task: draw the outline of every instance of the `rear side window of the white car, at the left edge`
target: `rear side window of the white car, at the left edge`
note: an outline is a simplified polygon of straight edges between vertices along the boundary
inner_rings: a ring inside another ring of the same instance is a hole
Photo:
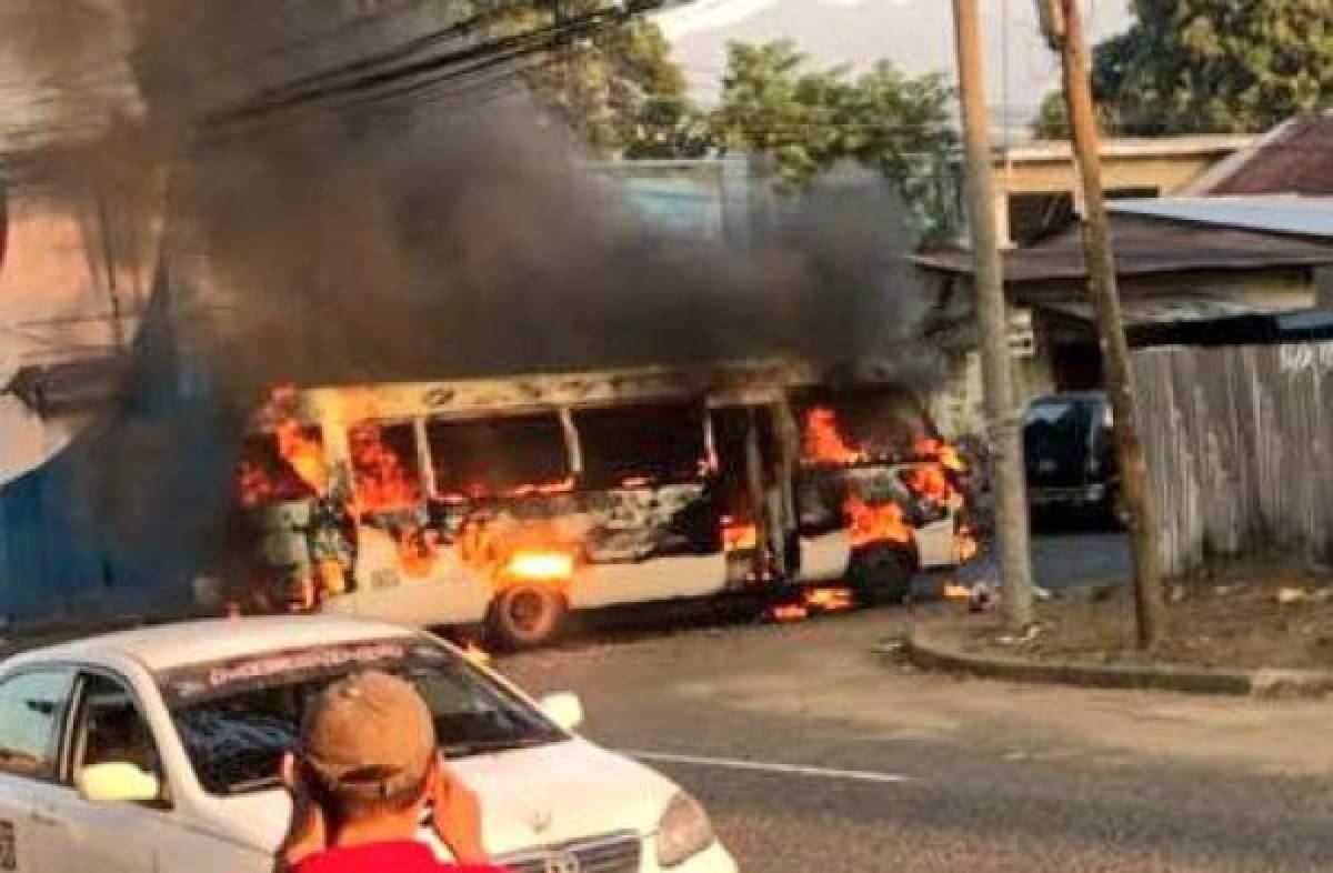
[[[69,670],[31,670],[0,682],[0,772],[55,778]]]

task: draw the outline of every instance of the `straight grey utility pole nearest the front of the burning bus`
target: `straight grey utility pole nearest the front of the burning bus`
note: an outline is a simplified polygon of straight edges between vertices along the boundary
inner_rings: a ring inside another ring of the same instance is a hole
[[[1032,552],[1028,542],[1028,494],[1022,440],[1013,391],[1009,317],[1004,299],[1004,265],[996,228],[994,181],[990,179],[990,119],[981,63],[978,0],[953,0],[962,92],[968,223],[972,225],[973,296],[981,332],[981,368],[986,389],[986,429],[994,470],[996,545],[1000,549],[1002,606],[1014,628],[1032,624]]]

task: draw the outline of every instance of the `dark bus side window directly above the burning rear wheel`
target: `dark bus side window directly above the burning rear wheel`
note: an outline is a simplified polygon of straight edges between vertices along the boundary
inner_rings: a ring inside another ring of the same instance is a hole
[[[444,497],[523,496],[572,486],[556,413],[427,423],[436,490]]]

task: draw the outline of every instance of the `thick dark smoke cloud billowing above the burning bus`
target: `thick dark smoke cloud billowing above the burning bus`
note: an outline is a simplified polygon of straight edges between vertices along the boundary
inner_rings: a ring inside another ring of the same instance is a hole
[[[924,297],[904,261],[914,235],[881,183],[841,175],[780,205],[741,247],[672,233],[589,172],[519,80],[415,105],[335,100],[200,124],[447,27],[447,4],[400,3],[401,15],[331,31],[324,0],[84,3],[95,12],[44,21],[21,51],[3,28],[0,48],[76,83],[97,16],[121,21],[133,111],[83,151],[97,160],[67,165],[141,192],[167,180],[159,288],[171,292],[173,343],[143,359],[103,427],[108,449],[88,465],[89,506],[120,541],[225,545],[209,530],[231,497],[227,449],[275,384],[781,353],[930,376]],[[291,48],[260,48],[275,45]],[[181,367],[220,403],[161,415],[148,385]]]

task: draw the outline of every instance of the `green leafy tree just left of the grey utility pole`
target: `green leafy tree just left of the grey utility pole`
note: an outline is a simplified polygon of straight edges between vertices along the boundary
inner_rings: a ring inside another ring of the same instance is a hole
[[[938,227],[952,212],[940,168],[958,141],[953,99],[941,75],[909,77],[889,61],[853,79],[809,71],[790,40],[733,44],[713,135],[724,151],[766,157],[789,189],[846,160],[877,169]]]

